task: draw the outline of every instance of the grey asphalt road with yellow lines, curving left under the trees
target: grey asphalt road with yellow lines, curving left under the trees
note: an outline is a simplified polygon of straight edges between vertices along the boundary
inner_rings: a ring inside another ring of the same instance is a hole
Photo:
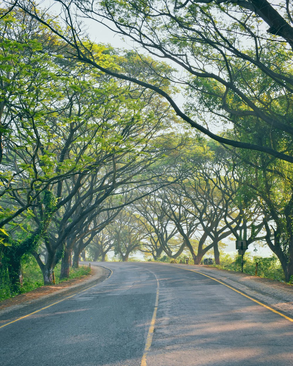
[[[6,314],[1,366],[293,365],[293,322],[232,288],[179,266],[103,265],[94,287]]]

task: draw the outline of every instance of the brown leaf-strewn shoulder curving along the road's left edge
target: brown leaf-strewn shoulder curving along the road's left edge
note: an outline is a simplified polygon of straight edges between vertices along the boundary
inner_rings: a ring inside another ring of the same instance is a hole
[[[91,266],[89,276],[81,276],[75,279],[64,281],[52,286],[42,286],[26,294],[20,294],[14,298],[0,302],[0,324],[6,319],[5,314],[25,313],[26,309],[34,311],[35,308],[48,305],[70,296],[76,292],[82,291],[88,287],[94,286],[104,281],[110,275],[110,270],[103,266]]]

